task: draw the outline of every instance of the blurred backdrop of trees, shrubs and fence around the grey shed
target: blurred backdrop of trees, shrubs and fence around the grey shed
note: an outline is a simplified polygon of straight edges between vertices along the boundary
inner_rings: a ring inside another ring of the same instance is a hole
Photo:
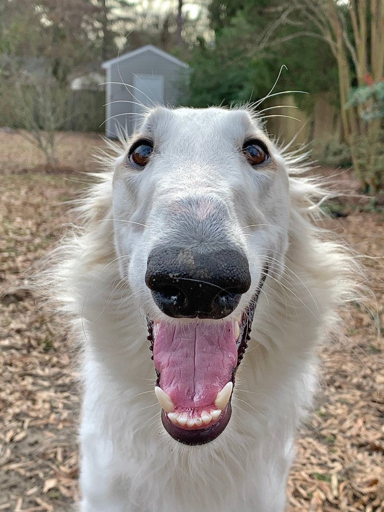
[[[267,129],[302,130],[320,161],[384,188],[384,0],[0,0],[0,125],[98,130],[101,63],[146,44],[188,62],[180,103],[195,107],[255,102],[285,65],[274,92],[309,94],[267,98]]]

